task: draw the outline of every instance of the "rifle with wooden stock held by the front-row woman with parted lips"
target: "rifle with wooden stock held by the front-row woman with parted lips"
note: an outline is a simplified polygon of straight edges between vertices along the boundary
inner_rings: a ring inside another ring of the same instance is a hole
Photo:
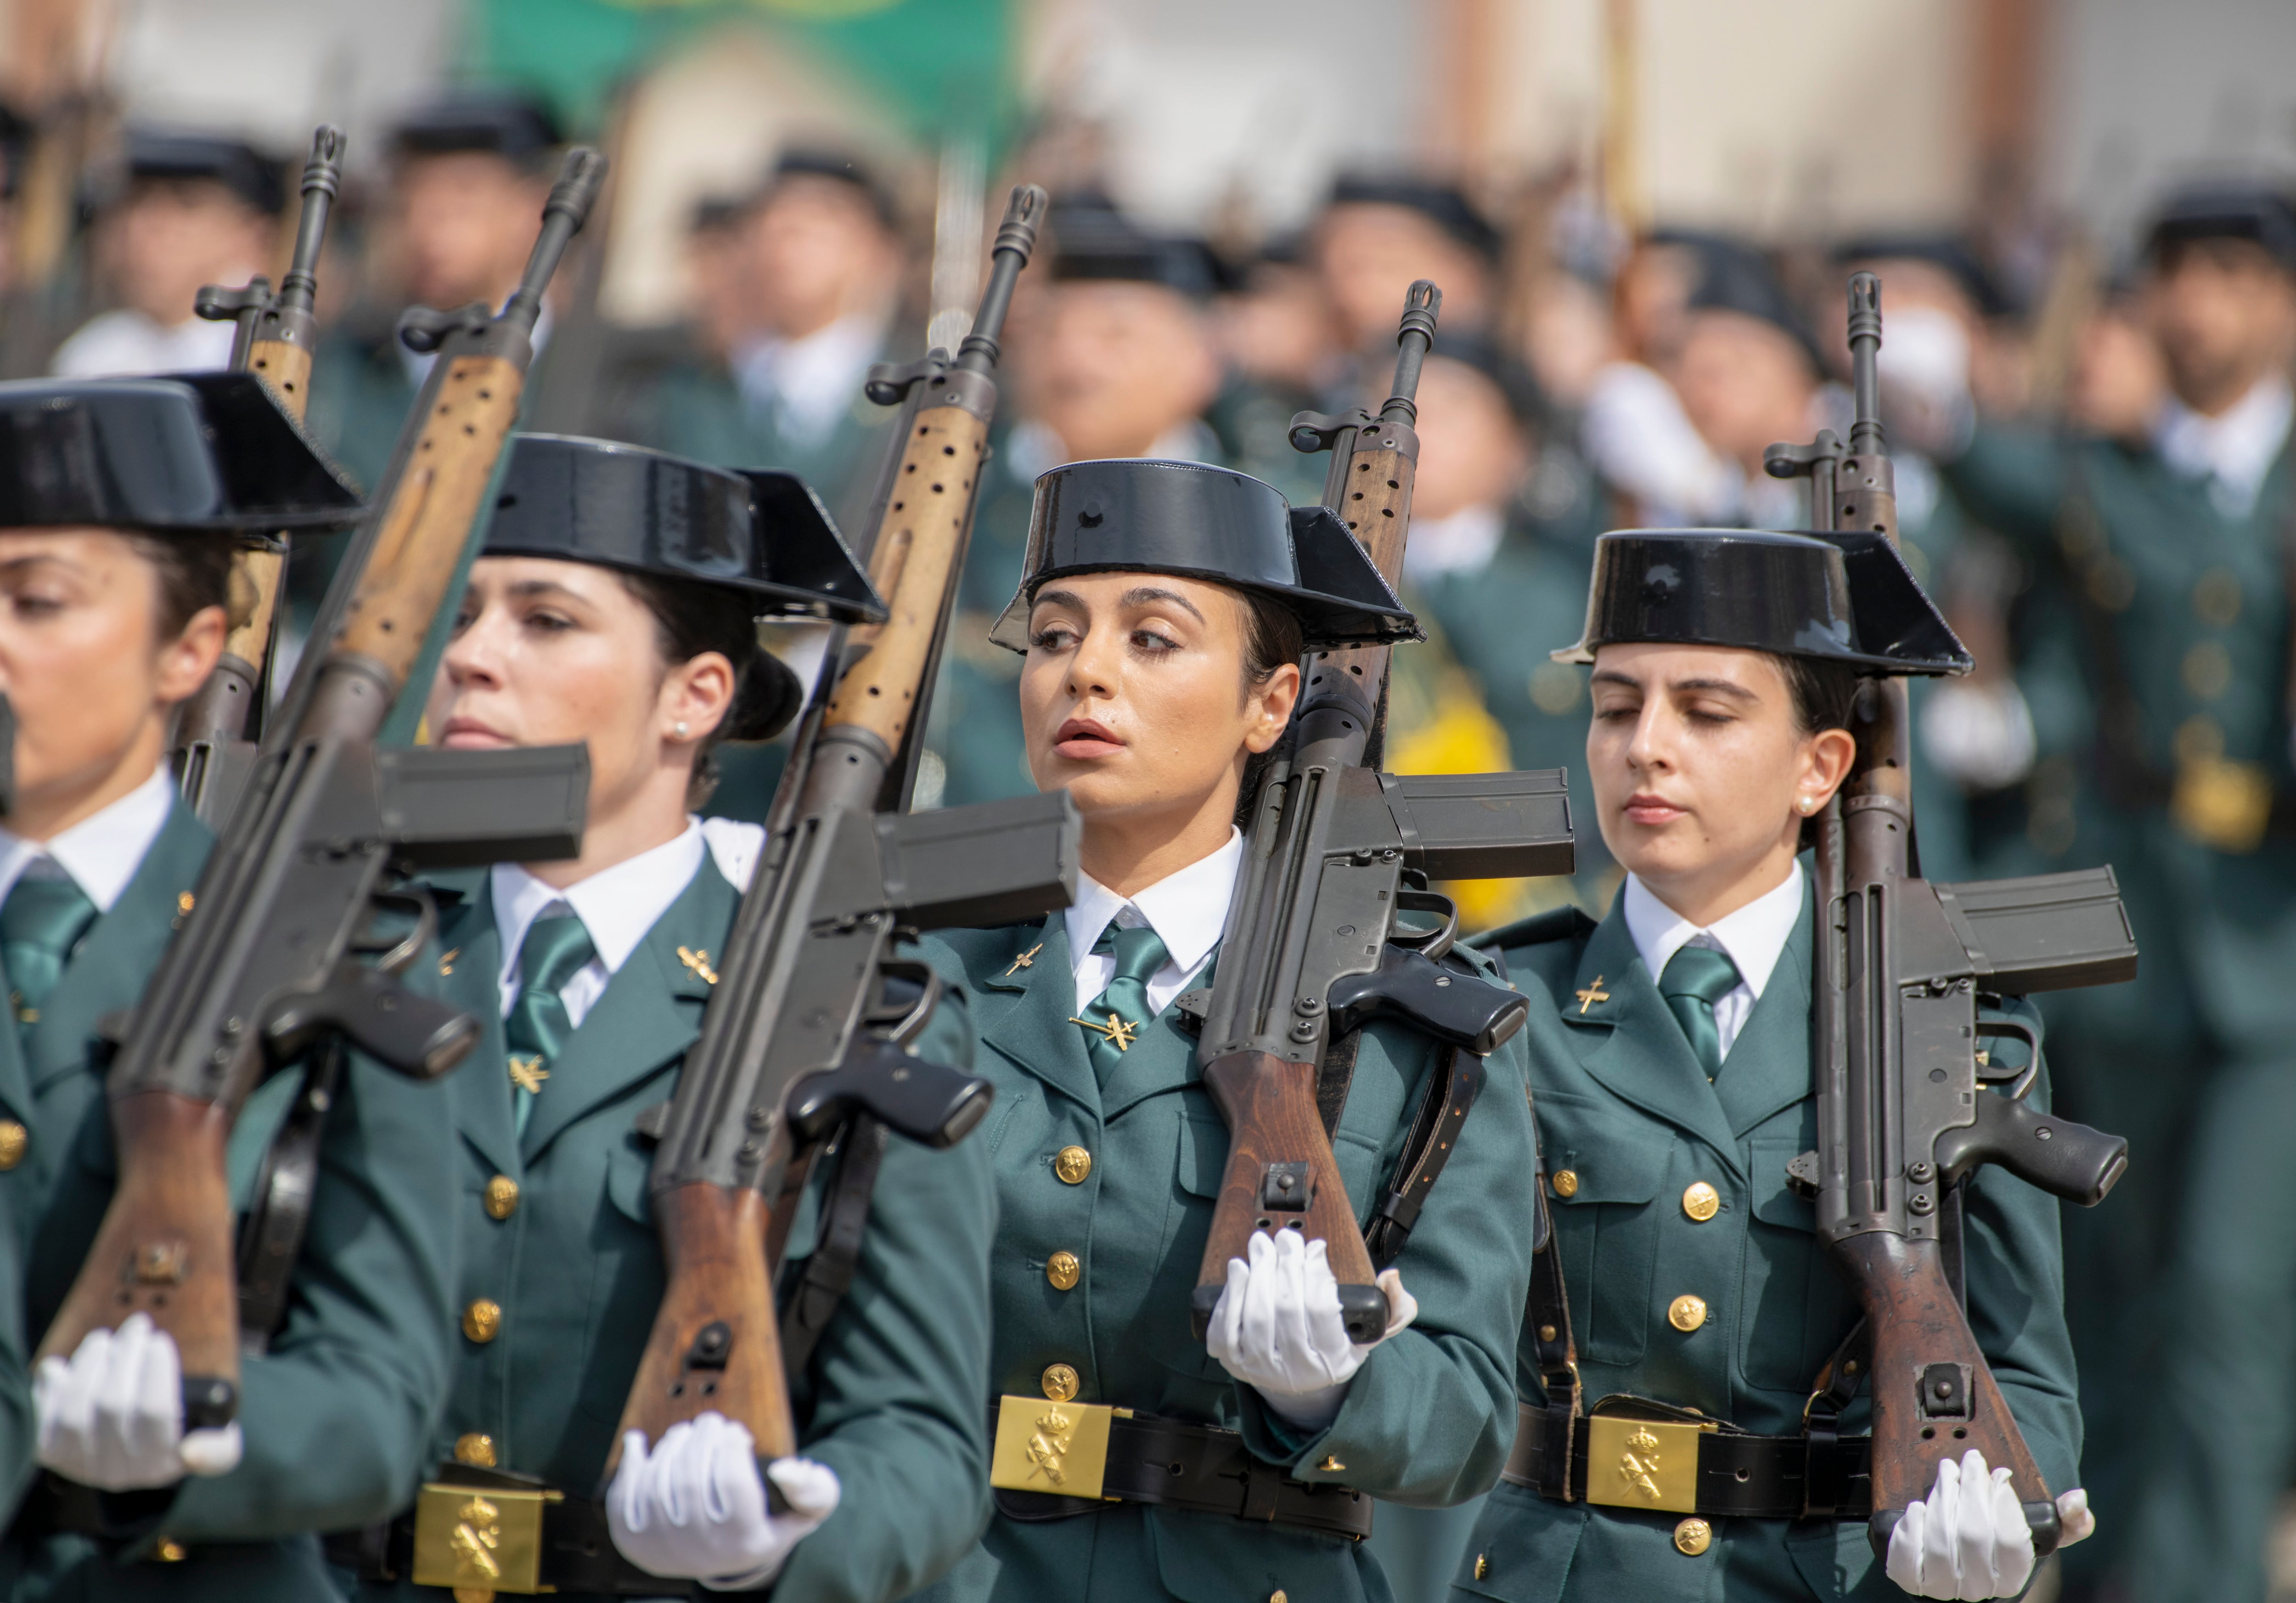
[[[1419,462],[1414,395],[1440,305],[1435,285],[1412,285],[1394,393],[1380,416],[1300,413],[1290,423],[1295,450],[1332,452],[1325,503],[1389,586],[1403,574]],[[1231,1137],[1192,1298],[1199,1339],[1228,1281],[1228,1259],[1247,1256],[1256,1231],[1277,1229],[1325,1242],[1348,1334],[1364,1343],[1380,1337],[1387,1300],[1332,1155],[1355,1066],[1352,1031],[1394,1017],[1451,1050],[1446,1079],[1424,1102],[1440,1139],[1414,1141],[1449,1153],[1481,1086],[1481,1059],[1522,1029],[1529,1004],[1442,962],[1458,909],[1428,882],[1570,873],[1561,769],[1380,772],[1389,650],[1322,650],[1302,664],[1300,707],[1251,802],[1242,884],[1210,999],[1182,999],[1201,1010],[1196,1059]],[[1433,916],[1433,928],[1412,914]],[[1401,1249],[1428,1183],[1424,1164],[1407,1164],[1380,1199],[1375,1240]]]

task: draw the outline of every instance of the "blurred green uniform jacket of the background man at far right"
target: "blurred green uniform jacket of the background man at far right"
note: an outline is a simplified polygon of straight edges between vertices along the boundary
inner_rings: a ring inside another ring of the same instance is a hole
[[[2285,1054],[2296,1031],[2296,988],[2285,983],[2296,962],[2296,831],[2252,850],[2211,847],[2179,822],[2170,788],[2193,779],[2195,795],[2225,795],[2216,765],[2282,795],[2296,788],[2289,455],[2241,517],[2151,450],[2030,429],[1979,432],[1947,478],[2085,613],[2080,668],[2096,735],[2050,866],[2115,866],[2144,967],[2135,985],[2080,992],[2082,1029],[2140,1050],[2183,1052],[2206,1031],[2234,1052]],[[2115,680],[2128,710],[2105,705]],[[2110,762],[2105,733],[2126,737],[2149,776]]]

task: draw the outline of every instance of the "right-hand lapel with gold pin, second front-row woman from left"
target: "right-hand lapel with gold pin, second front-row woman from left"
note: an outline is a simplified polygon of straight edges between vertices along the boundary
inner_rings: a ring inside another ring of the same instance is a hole
[[[732,912],[732,886],[703,857],[693,882],[645,932],[551,1063],[551,1077],[519,1137],[528,1164],[560,1130],[684,1056],[700,1036],[709,1001],[712,981],[703,969],[716,974],[714,962],[723,955]],[[693,962],[680,958],[680,948]]]

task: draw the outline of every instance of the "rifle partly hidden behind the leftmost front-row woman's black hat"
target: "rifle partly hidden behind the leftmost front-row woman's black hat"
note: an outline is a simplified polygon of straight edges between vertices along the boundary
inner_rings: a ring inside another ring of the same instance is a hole
[[[310,404],[310,363],[319,347],[319,250],[326,246],[326,220],[342,188],[342,129],[321,124],[310,138],[310,161],[303,163],[303,216],[278,294],[269,280],[255,278],[239,289],[209,285],[193,301],[200,317],[239,324],[232,367],[257,374],[280,411],[296,423]],[[230,815],[255,765],[253,735],[262,728],[264,682],[271,671],[271,638],[285,579],[285,542],[241,547],[232,556],[232,606],[248,609],[246,618],[225,636],[223,657],[207,675],[207,684],[177,712],[174,774],[184,802],[204,824]]]

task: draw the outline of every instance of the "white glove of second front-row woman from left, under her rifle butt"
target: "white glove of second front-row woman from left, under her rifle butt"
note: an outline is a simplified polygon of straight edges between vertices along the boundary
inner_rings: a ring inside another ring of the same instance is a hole
[[[836,1513],[836,1470],[810,1458],[765,1468],[788,1513],[774,1513],[748,1428],[707,1412],[661,1433],[622,1435],[622,1468],[606,1490],[606,1530],[622,1557],[652,1575],[700,1580],[716,1592],[762,1587],[799,1541]]]

